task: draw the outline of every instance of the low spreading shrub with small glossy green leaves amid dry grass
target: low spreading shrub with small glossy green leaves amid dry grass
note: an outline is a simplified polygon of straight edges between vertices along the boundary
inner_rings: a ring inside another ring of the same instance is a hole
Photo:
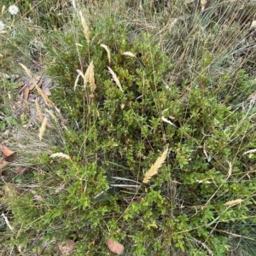
[[[3,202],[19,230],[8,242],[23,253],[54,253],[55,241],[71,239],[77,255],[107,255],[112,238],[125,255],[231,255],[230,236],[255,223],[255,113],[252,101],[236,104],[252,79],[243,68],[236,79],[212,77],[215,59],[202,49],[200,75],[177,84],[166,79],[176,63],[149,33],[129,38],[129,23],[111,14],[87,25],[90,38],[77,18],[46,38],[62,115],[50,149],[70,159],[40,155],[38,185],[19,196],[7,184]],[[79,75],[90,63],[95,89]],[[143,183],[165,148],[165,163]]]

